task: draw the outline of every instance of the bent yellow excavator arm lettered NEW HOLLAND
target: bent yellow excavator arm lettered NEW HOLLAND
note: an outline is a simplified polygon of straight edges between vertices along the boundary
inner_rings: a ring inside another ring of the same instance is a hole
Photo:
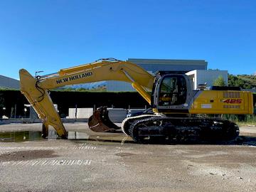
[[[58,112],[53,106],[48,90],[65,85],[74,85],[102,80],[119,80],[130,82],[137,92],[151,104],[151,92],[154,76],[138,65],[127,61],[115,59],[101,59],[95,63],[65,68],[51,75],[33,78],[28,71],[19,71],[21,92],[30,102],[38,117],[43,121],[43,127],[48,130],[48,125],[53,126],[60,137],[66,138],[67,132]]]

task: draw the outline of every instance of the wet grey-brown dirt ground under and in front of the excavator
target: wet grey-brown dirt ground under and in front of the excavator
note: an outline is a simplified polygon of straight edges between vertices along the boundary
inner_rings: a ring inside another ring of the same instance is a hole
[[[65,124],[0,125],[0,191],[256,191],[256,127],[233,142],[135,144],[124,134]]]

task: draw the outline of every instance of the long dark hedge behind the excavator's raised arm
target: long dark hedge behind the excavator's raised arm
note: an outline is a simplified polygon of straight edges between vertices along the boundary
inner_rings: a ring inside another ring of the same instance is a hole
[[[149,104],[137,92],[63,92],[50,93],[53,103],[58,106],[60,117],[69,116],[70,109],[95,108],[107,106],[112,108],[144,108]],[[85,110],[76,111],[75,118]],[[0,119],[30,118],[35,119],[36,114],[31,110],[28,101],[18,90],[0,90]]]

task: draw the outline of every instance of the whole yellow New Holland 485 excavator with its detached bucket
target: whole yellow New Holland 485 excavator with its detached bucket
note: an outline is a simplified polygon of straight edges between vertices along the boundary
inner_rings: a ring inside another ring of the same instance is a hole
[[[171,141],[230,140],[238,137],[237,124],[221,118],[198,114],[252,114],[252,93],[234,87],[215,87],[215,90],[192,90],[190,78],[180,72],[159,71],[151,75],[134,63],[113,58],[65,68],[50,75],[19,71],[21,92],[26,96],[43,122],[43,137],[48,126],[67,138],[67,132],[50,99],[49,90],[65,85],[102,80],[130,82],[151,105],[154,114],[127,117],[122,127],[110,122],[106,107],[100,107],[88,120],[95,132],[114,132],[122,129],[135,142],[146,139]],[[120,99],[120,98],[118,98]]]

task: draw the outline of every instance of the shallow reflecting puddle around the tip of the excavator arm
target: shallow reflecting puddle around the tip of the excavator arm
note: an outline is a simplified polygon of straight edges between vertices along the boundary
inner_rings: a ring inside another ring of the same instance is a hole
[[[57,133],[49,130],[47,139],[41,137],[42,132],[38,131],[20,131],[20,132],[0,132],[0,142],[27,142],[27,141],[46,141],[60,139]],[[114,143],[134,143],[132,138],[124,134],[97,133],[87,134],[85,132],[68,132],[68,140],[72,141],[90,141],[90,142],[114,142]]]

